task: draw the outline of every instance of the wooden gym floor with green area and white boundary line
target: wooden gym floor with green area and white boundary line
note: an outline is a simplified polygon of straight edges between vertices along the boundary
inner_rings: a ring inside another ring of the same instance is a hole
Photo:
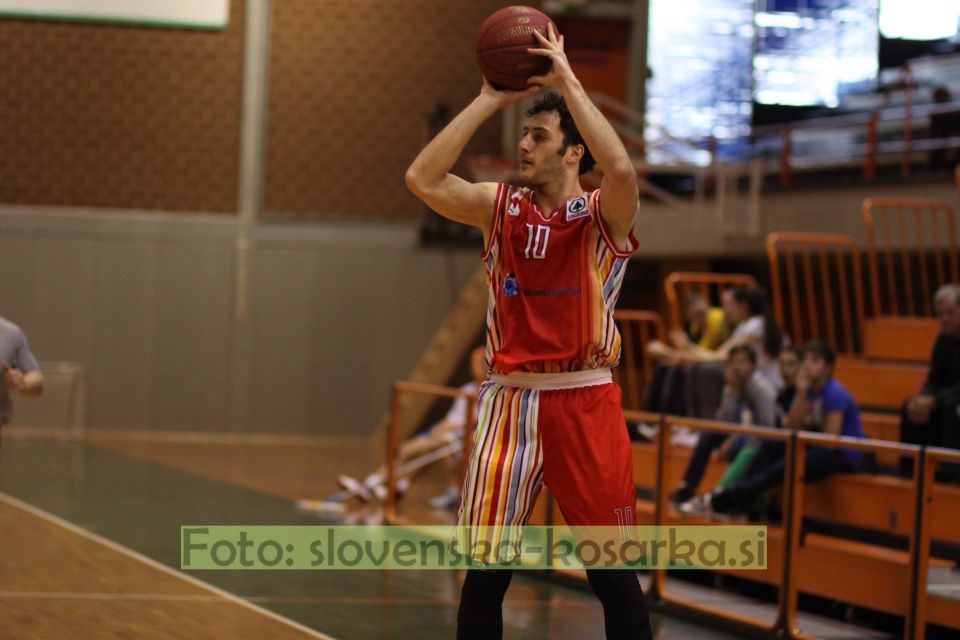
[[[176,568],[182,524],[335,523],[293,501],[372,469],[380,456],[366,440],[11,435],[0,446],[0,638],[453,637],[456,572]],[[414,487],[406,515],[451,517],[423,506],[438,477]],[[603,637],[592,594],[522,572],[504,621],[506,638]],[[736,637],[661,615],[655,629],[660,640]]]

